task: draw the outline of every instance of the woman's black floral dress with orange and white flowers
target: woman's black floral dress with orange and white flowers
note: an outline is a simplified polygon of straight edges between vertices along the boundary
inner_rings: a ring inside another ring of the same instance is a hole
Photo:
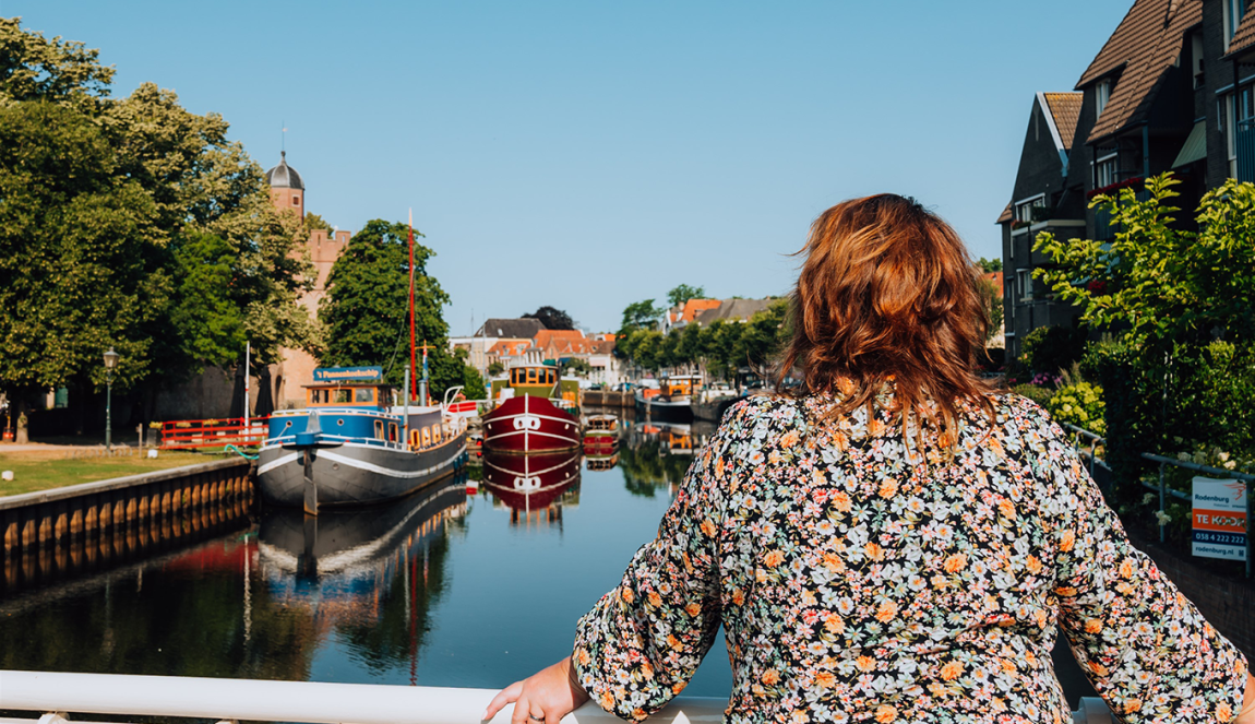
[[[660,709],[720,624],[729,721],[1071,721],[1060,627],[1124,721],[1241,709],[1246,659],[1130,545],[1034,403],[965,412],[953,457],[905,445],[887,413],[826,422],[831,404],[724,417],[658,538],[580,620],[572,661],[604,709]]]

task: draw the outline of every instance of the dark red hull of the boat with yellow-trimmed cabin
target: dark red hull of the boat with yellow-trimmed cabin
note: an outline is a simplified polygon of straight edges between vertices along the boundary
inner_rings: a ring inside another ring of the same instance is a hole
[[[483,415],[483,447],[496,453],[579,450],[580,420],[545,398],[522,395]]]

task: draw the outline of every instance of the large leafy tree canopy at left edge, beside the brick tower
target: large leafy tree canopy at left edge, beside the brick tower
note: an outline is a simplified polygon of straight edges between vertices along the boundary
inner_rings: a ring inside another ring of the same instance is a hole
[[[110,346],[124,389],[310,345],[300,220],[220,115],[112,99],[97,55],[0,19],[0,388],[98,386]]]

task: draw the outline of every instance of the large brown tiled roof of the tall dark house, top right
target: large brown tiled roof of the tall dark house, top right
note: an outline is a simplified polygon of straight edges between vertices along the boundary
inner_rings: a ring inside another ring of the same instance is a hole
[[[1077,88],[1123,68],[1088,141],[1142,120],[1155,87],[1181,51],[1185,31],[1202,20],[1202,0],[1137,0],[1107,39]]]

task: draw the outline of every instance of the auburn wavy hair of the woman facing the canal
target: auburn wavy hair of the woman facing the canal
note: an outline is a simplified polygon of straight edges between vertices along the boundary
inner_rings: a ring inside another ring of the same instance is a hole
[[[978,267],[946,222],[894,193],[855,198],[820,215],[797,253],[778,391],[833,393],[836,418],[872,408],[891,383],[904,438],[914,422],[943,447],[958,442],[964,400],[991,415],[993,388],[976,371],[989,329]],[[801,388],[787,384],[796,369]]]

